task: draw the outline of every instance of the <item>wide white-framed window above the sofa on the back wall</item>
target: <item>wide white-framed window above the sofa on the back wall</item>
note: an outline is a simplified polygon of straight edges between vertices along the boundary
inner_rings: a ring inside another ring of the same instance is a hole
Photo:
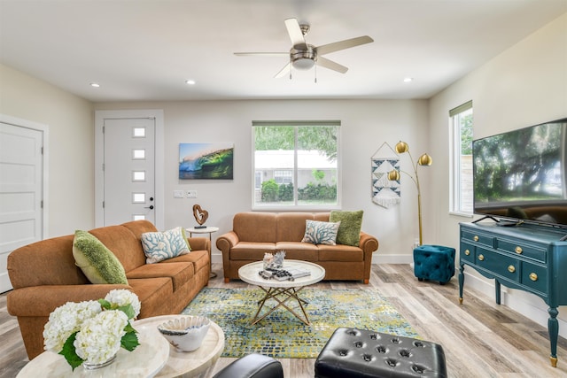
[[[252,121],[252,208],[338,208],[339,131],[338,120]]]

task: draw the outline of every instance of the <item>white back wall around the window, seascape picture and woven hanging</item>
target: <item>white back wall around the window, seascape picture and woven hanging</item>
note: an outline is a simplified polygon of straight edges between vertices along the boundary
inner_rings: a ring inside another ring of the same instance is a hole
[[[364,210],[362,228],[376,235],[380,243],[377,260],[392,261],[400,254],[405,260],[410,259],[417,236],[416,189],[410,186],[413,185],[411,181],[405,180],[400,206],[386,210],[373,204],[370,157],[382,143],[393,146],[400,139],[416,150],[424,149],[428,119],[426,101],[193,101],[96,104],[95,107],[97,110],[164,110],[166,227],[195,225],[192,206],[199,204],[209,212],[207,224],[221,228],[216,236],[232,228],[234,213],[252,208],[252,120],[341,120],[342,208]],[[178,179],[179,143],[198,142],[235,144],[234,180]],[[408,161],[404,160],[402,164],[405,163]],[[196,189],[198,198],[174,198],[175,189]],[[219,253],[214,249],[215,261],[220,261]]]

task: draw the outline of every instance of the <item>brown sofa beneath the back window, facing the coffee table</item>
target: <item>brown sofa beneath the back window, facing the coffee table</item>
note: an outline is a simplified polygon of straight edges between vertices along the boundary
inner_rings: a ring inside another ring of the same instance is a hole
[[[222,251],[224,281],[238,278],[238,269],[260,261],[266,252],[285,251],[285,258],[311,261],[325,268],[325,280],[369,283],[377,238],[361,232],[360,245],[301,243],[306,220],[329,221],[329,212],[239,212],[232,231],[216,239]]]

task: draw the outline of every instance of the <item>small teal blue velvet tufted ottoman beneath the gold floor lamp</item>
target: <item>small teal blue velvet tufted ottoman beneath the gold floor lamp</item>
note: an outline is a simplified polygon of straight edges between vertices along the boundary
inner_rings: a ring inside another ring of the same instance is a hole
[[[419,281],[449,282],[454,276],[454,248],[420,245],[414,249],[414,274]]]

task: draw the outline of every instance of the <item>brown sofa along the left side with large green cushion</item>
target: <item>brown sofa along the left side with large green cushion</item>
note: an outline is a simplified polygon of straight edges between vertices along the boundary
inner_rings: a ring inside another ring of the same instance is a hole
[[[139,318],[181,312],[208,284],[211,243],[205,237],[189,238],[189,254],[146,264],[140,235],[155,231],[147,220],[89,231],[120,260],[128,285],[91,284],[75,266],[74,235],[12,251],[8,274],[14,289],[8,293],[7,306],[18,317],[27,357],[33,359],[43,351],[43,327],[50,312],[66,302],[96,300],[112,289],[130,289],[142,303]]]

